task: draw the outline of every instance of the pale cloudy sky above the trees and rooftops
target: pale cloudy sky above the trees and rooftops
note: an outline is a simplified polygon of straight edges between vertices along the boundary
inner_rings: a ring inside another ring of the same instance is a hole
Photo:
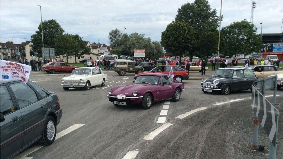
[[[189,2],[193,2],[190,0]],[[263,33],[280,33],[283,0],[257,0],[254,23]],[[30,40],[42,20],[56,19],[65,33],[79,34],[84,40],[109,44],[108,33],[118,28],[131,33],[137,31],[152,40],[160,41],[166,25],[175,19],[177,9],[186,1],[180,0],[0,0],[0,41],[17,43],[18,38]],[[211,8],[220,14],[220,0],[209,0]],[[223,0],[222,26],[233,21],[250,20],[251,0]],[[20,42],[24,40],[20,39]]]

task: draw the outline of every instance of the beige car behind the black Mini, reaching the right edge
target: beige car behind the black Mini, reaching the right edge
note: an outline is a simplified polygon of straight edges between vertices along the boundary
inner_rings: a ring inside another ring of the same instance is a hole
[[[250,66],[249,68],[253,69],[255,75],[258,78],[263,78],[263,77],[283,73],[283,68],[273,65],[255,65],[255,66]]]

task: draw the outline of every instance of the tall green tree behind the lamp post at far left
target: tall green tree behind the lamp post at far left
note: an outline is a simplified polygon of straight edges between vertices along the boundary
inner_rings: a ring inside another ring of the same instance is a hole
[[[43,43],[44,47],[55,47],[55,38],[58,35],[62,35],[64,30],[61,28],[61,25],[55,20],[50,19],[43,21]],[[38,30],[35,31],[35,34],[31,36],[31,50],[37,53],[37,56],[41,57],[41,48],[42,48],[42,36],[41,36],[41,23],[38,26]],[[59,52],[55,51],[55,55],[59,56]]]

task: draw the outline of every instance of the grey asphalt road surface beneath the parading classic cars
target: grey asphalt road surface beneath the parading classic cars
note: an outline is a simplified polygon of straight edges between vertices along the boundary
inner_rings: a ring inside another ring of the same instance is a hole
[[[57,125],[57,136],[60,132],[63,136],[49,146],[41,147],[35,143],[16,158],[268,157],[267,150],[264,153],[253,152],[247,146],[253,141],[249,90],[232,92],[228,96],[206,94],[199,88],[200,80],[187,80],[183,81],[186,90],[182,92],[179,102],[168,99],[165,104],[164,101],[154,103],[147,110],[136,105],[115,107],[106,97],[107,90],[117,85],[132,84],[134,74],[119,76],[113,71],[105,73],[108,81],[104,87],[99,85],[91,87],[89,91],[64,91],[61,78],[64,74],[70,74],[32,72],[29,80],[55,92],[59,97],[63,116]],[[271,94],[271,91],[266,93]],[[277,103],[282,105],[283,89],[278,90],[277,94],[280,95]],[[233,99],[239,100],[229,102]],[[272,97],[267,99],[272,101]],[[226,101],[228,103],[217,105]],[[200,110],[201,107],[205,108]],[[194,113],[179,116],[190,111]],[[164,117],[166,123],[157,123],[161,120],[159,117]],[[280,116],[277,158],[283,158],[282,121],[283,117]],[[82,125],[73,126],[75,124]],[[72,131],[67,131],[70,129]],[[259,145],[268,146],[267,137],[260,127]]]

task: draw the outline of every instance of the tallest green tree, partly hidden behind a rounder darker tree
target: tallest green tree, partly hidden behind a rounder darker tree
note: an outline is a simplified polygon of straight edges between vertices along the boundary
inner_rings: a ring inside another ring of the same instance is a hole
[[[175,20],[188,23],[195,33],[194,46],[189,52],[191,59],[196,53],[206,57],[217,52],[219,16],[216,13],[206,0],[187,2],[178,8]]]

